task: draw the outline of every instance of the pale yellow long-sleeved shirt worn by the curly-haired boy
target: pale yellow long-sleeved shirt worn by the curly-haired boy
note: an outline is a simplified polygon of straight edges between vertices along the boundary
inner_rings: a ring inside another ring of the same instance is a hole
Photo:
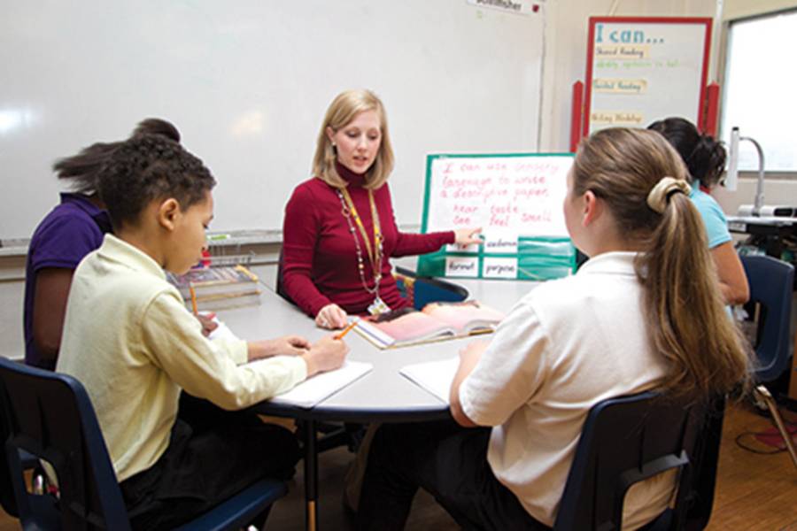
[[[181,389],[236,410],[306,378],[301,358],[246,358],[244,341],[205,338],[158,263],[127,242],[105,235],[75,270],[56,370],[88,391],[118,481],[166,450]]]

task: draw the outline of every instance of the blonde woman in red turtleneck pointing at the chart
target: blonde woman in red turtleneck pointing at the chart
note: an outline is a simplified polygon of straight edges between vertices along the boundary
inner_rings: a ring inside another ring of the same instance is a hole
[[[481,242],[473,228],[399,232],[387,184],[392,169],[382,102],[364,89],[339,94],[321,125],[314,176],[293,191],[282,225],[282,289],[319,327],[409,305],[390,257]]]

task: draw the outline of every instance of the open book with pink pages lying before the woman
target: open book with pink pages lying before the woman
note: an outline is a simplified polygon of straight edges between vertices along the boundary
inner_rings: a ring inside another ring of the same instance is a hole
[[[354,329],[380,349],[466,335],[489,334],[504,314],[477,301],[429,303],[418,312],[403,308],[360,319]]]

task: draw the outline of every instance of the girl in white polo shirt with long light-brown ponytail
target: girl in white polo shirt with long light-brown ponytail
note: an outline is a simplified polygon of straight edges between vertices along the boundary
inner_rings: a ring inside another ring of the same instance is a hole
[[[697,400],[747,386],[747,347],[725,315],[687,181],[653,131],[604,129],[582,142],[563,206],[590,260],[530,291],[491,342],[460,351],[453,420],[379,428],[360,528],[403,528],[418,487],[465,528],[553,526],[594,404],[648,389]],[[632,486],[623,529],[658,516],[674,485],[663,473]]]

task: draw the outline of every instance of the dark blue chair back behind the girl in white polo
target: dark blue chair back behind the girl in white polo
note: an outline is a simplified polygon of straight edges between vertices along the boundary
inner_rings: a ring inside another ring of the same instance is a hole
[[[670,469],[680,470],[676,503],[646,529],[684,529],[688,519],[705,527],[719,447],[718,435],[708,436],[717,428],[708,411],[707,403],[685,404],[654,392],[595,404],[584,421],[554,531],[619,531],[631,485]],[[717,414],[721,431],[722,410]]]

